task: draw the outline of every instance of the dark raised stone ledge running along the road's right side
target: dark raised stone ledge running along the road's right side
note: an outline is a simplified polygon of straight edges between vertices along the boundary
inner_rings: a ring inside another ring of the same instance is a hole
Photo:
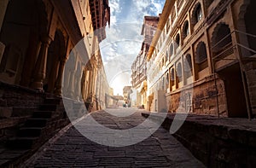
[[[142,113],[155,122],[163,113]],[[178,114],[178,118],[185,117]],[[162,126],[170,130],[174,113],[168,113]],[[177,119],[178,120],[178,119]],[[256,119],[219,118],[189,114],[173,136],[209,167],[252,167],[256,165]]]

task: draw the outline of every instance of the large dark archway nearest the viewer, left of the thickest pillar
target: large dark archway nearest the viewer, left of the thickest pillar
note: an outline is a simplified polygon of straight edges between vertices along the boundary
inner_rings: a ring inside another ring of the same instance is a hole
[[[0,33],[0,41],[7,47],[0,65],[1,78],[11,84],[29,86],[40,37],[47,34],[48,24],[43,1],[9,1]]]

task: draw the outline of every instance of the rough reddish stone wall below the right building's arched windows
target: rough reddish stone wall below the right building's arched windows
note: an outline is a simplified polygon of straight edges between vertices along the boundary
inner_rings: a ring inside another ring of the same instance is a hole
[[[219,111],[221,116],[227,116],[224,82],[217,77],[216,85],[217,90],[215,90],[213,76],[208,76],[196,81],[193,85],[184,87],[182,90],[167,94],[168,111],[170,113],[189,112],[212,115],[218,115]]]

